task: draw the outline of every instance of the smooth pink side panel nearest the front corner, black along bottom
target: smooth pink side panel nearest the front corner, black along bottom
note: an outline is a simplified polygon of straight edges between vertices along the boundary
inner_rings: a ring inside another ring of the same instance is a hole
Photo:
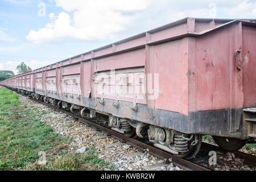
[[[150,61],[146,61],[146,74],[154,75],[154,82],[147,82],[147,104],[151,122],[187,133],[188,38],[150,46],[147,49],[147,60]],[[150,95],[151,87],[154,95]]]

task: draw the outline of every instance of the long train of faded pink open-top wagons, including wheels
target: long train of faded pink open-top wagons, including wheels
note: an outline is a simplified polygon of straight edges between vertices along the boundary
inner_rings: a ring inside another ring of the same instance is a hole
[[[1,84],[192,158],[256,138],[256,21],[184,18]]]

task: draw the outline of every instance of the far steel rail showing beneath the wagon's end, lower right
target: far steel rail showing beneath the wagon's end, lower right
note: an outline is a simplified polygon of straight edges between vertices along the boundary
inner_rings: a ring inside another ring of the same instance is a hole
[[[213,150],[213,151],[224,151],[224,150],[221,150],[221,148],[219,146],[217,146],[217,144],[213,144],[213,143],[209,143],[209,142],[202,142],[201,150],[205,150],[205,151],[211,151],[211,150]],[[246,154],[245,152],[241,152],[241,151],[233,151],[233,153],[238,158],[244,159],[244,162],[246,164],[256,166],[256,156],[255,155]]]

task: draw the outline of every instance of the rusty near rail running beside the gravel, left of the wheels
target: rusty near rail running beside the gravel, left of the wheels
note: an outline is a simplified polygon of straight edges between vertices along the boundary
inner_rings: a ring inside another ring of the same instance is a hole
[[[23,96],[26,96],[26,95],[23,95]],[[137,147],[141,150],[147,149],[148,153],[150,153],[151,155],[154,155],[154,156],[156,156],[160,159],[170,159],[171,158],[172,163],[175,166],[180,167],[184,170],[187,170],[187,171],[211,171],[211,169],[209,169],[207,167],[200,166],[199,164],[193,163],[189,160],[177,158],[176,156],[174,156],[174,155],[172,155],[172,154],[170,154],[166,151],[160,150],[159,148],[151,146],[150,144],[144,143],[142,141],[139,141],[139,140],[136,140],[136,139],[133,139],[133,138],[130,138],[130,137],[125,137],[125,135],[123,135],[121,133],[118,133],[117,131],[114,131],[114,130],[108,129],[104,126],[98,125],[97,123],[89,121],[88,119],[85,119],[85,118],[82,118],[78,115],[72,114],[67,110],[59,109],[56,106],[53,106],[51,104],[47,104],[46,102],[43,102],[43,101],[36,100],[32,97],[28,97],[28,96],[26,96],[26,97],[29,98],[30,100],[38,102],[42,105],[48,106],[51,109],[54,109],[54,110],[60,111],[61,113],[67,114],[70,117],[74,118],[77,122],[81,122],[81,123],[84,123],[87,126],[93,127],[97,131],[102,131],[102,132],[106,133],[108,136],[112,136],[114,138],[117,138],[117,139],[121,140],[123,143],[130,144],[131,146]]]

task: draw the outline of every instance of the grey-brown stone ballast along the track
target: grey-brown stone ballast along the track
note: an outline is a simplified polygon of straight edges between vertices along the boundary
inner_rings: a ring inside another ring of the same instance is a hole
[[[22,105],[32,106],[32,108],[42,113],[38,119],[51,126],[53,132],[72,139],[67,149],[69,152],[76,152],[79,155],[89,148],[96,148],[98,158],[104,160],[107,164],[112,164],[117,171],[183,171],[172,162],[166,164],[164,160],[150,155],[147,150],[139,150],[122,143],[118,139],[96,131],[96,129],[77,122],[66,114],[32,101],[25,96],[20,96],[19,100]],[[226,154],[217,152],[217,165],[210,166],[210,168],[216,171],[255,171],[256,167],[247,166],[243,163],[243,160],[236,158],[236,156],[234,157],[232,154],[229,152]],[[105,168],[105,170],[109,170],[109,168]]]

